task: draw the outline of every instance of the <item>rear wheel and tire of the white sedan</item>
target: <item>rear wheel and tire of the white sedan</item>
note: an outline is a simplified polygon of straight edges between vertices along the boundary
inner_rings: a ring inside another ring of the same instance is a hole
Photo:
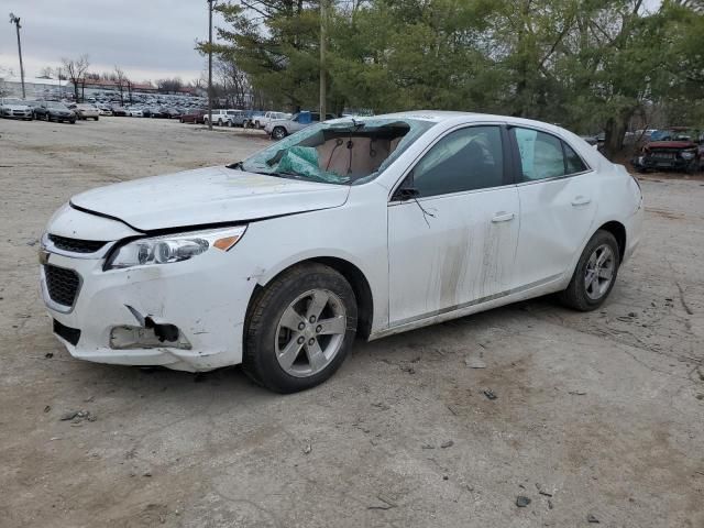
[[[601,265],[600,260],[603,260]],[[619,264],[618,242],[612,233],[600,229],[586,243],[569,286],[558,294],[560,301],[579,311],[595,310],[614,288]],[[608,275],[610,278],[607,282]]]

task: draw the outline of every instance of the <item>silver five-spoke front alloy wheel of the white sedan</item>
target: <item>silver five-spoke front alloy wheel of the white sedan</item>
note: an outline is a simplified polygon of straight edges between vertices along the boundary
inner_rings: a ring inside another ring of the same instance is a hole
[[[298,296],[276,328],[276,359],[289,375],[308,377],[324,370],[344,342],[346,312],[340,297],[327,289]]]

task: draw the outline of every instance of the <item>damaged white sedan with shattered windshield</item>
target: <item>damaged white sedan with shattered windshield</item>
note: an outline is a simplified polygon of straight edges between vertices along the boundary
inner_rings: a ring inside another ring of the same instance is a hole
[[[72,198],[40,260],[82,360],[208,371],[283,393],[377,339],[559,293],[609,295],[640,187],[566,130],[419,111],[312,125],[229,166]]]

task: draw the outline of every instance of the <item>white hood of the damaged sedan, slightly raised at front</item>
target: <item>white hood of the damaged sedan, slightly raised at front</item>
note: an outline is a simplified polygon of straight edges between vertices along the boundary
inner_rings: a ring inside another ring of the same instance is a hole
[[[330,209],[343,205],[349,190],[341,185],[208,167],[100,187],[70,202],[141,231],[154,231]]]

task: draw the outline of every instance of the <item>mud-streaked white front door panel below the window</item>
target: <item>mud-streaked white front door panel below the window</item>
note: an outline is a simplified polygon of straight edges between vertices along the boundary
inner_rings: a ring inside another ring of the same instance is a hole
[[[392,326],[509,290],[518,212],[513,185],[389,205]]]

